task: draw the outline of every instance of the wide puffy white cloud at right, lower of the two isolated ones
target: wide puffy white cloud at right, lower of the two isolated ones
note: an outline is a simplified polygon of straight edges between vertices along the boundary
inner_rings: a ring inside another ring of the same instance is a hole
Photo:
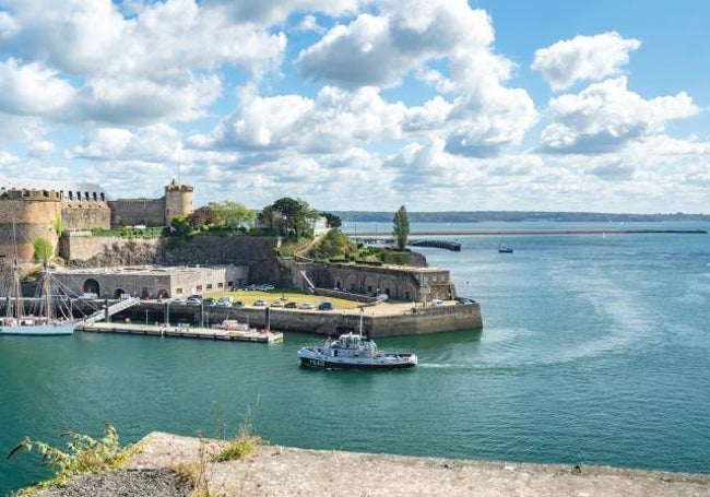
[[[698,114],[685,92],[643,99],[627,90],[626,76],[590,85],[577,95],[549,102],[552,123],[542,133],[546,153],[606,153],[658,134],[665,123]]]

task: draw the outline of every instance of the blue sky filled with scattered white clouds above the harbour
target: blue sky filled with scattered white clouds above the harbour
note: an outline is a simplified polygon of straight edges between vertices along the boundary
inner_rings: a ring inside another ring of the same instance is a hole
[[[0,182],[710,214],[708,19],[691,0],[0,0]]]

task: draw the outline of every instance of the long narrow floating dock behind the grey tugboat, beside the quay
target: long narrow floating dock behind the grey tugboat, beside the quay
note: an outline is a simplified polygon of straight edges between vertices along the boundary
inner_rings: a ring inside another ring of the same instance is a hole
[[[223,340],[226,342],[279,343],[284,334],[277,331],[223,330],[220,328],[164,327],[152,324],[132,324],[127,322],[96,322],[80,324],[79,331],[90,333],[120,333],[154,336],[177,336],[181,339]]]

